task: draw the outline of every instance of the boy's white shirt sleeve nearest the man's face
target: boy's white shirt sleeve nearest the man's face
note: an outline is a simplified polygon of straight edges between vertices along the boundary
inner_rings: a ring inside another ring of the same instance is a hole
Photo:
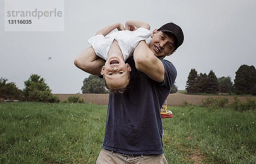
[[[131,45],[136,48],[141,40],[146,40],[150,35],[151,32],[148,29],[142,27],[137,28],[137,30],[133,31],[130,35]]]

